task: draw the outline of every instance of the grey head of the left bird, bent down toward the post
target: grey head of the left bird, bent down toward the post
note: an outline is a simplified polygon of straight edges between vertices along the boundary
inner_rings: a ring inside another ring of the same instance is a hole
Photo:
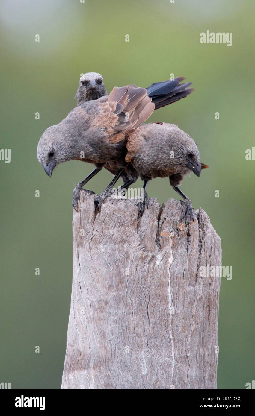
[[[37,146],[37,159],[49,177],[55,166],[72,159],[72,149],[66,146],[59,125],[49,127],[42,134]]]

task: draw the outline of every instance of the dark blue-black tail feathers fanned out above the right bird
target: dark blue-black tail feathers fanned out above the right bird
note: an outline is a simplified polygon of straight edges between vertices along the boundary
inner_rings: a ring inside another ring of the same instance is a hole
[[[148,97],[155,104],[155,110],[187,97],[192,91],[195,91],[194,88],[188,88],[192,82],[180,84],[184,79],[185,77],[178,77],[173,80],[154,82],[146,88]]]

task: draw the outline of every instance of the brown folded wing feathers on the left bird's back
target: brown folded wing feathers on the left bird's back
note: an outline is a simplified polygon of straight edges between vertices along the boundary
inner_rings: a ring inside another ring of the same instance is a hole
[[[155,109],[155,104],[148,97],[147,90],[135,85],[114,87],[107,102],[118,116],[118,123],[113,127],[115,134],[110,138],[111,143],[124,139],[131,129],[147,120]]]

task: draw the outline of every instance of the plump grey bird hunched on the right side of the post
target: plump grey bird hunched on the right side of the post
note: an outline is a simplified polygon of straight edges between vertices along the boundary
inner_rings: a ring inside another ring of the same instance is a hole
[[[125,161],[132,164],[144,181],[140,215],[149,204],[148,182],[157,177],[169,177],[170,185],[184,199],[181,220],[186,216],[186,227],[191,219],[194,220],[195,211],[190,198],[180,190],[180,183],[187,174],[193,172],[200,176],[201,169],[208,168],[208,165],[200,163],[195,141],[175,124],[162,121],[138,126],[127,134],[126,139],[128,151]]]

